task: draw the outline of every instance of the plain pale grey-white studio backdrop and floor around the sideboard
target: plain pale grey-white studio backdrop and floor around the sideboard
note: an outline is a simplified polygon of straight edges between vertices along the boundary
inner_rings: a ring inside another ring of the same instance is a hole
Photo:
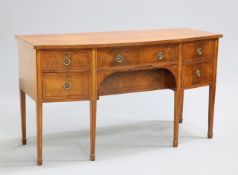
[[[0,174],[238,174],[236,0],[0,0]],[[96,161],[89,161],[88,102],[44,105],[44,165],[37,167],[35,103],[27,98],[21,145],[14,35],[191,27],[220,40],[214,138],[206,138],[208,88],[185,92],[172,147],[173,92],[98,102]]]

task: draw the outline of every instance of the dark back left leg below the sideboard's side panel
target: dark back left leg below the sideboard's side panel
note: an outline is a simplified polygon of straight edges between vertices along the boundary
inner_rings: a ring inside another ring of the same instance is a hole
[[[26,94],[20,89],[22,144],[26,145]]]

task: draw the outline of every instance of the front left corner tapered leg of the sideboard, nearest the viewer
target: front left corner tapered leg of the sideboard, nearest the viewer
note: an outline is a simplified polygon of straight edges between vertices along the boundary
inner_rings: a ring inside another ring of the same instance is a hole
[[[36,103],[37,165],[42,165],[42,103]]]

